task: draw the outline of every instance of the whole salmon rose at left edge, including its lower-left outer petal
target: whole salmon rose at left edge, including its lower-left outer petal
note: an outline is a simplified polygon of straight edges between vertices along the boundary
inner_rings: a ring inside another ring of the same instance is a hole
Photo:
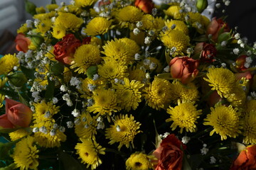
[[[32,111],[28,106],[9,98],[6,101],[6,113],[0,116],[0,129],[26,128],[31,123]]]

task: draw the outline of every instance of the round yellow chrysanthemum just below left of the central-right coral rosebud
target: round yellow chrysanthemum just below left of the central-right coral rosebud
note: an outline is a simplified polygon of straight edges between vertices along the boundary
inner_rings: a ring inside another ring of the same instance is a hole
[[[171,103],[171,83],[166,79],[154,78],[148,87],[143,90],[146,103],[156,110],[166,108]]]

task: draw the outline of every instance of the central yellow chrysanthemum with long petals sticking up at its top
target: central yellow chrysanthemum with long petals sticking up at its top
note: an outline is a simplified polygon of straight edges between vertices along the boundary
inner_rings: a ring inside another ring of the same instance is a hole
[[[124,84],[115,84],[114,89],[117,89],[117,96],[119,96],[119,106],[126,111],[130,111],[131,108],[135,110],[139,106],[139,102],[142,101],[142,93],[139,91],[144,86],[139,81],[129,81],[124,78]]]

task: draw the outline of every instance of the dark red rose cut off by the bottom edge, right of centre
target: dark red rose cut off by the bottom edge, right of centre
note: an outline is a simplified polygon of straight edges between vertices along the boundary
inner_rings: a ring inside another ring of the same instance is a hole
[[[174,134],[168,135],[153,152],[158,159],[155,170],[181,170],[183,149],[186,149],[186,145],[183,145]]]

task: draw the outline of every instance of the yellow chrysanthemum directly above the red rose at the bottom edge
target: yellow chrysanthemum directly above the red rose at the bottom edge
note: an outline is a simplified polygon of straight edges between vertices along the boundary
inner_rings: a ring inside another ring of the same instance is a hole
[[[166,122],[174,121],[171,124],[171,130],[175,130],[178,127],[181,128],[180,133],[183,132],[183,129],[186,132],[196,132],[196,119],[200,117],[202,110],[197,110],[197,105],[194,106],[194,104],[195,102],[181,103],[178,100],[178,106],[167,109],[167,113],[171,115],[171,118],[166,119]]]

